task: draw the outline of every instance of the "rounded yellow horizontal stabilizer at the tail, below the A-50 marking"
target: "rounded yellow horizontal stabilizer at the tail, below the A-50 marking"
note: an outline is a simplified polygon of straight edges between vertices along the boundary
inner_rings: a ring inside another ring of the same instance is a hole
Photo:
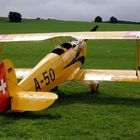
[[[58,96],[51,92],[20,91],[12,98],[13,111],[40,111],[54,103]]]

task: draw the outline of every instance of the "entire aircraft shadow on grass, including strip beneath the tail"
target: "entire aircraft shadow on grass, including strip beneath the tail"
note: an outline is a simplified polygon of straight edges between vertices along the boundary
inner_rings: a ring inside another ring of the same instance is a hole
[[[89,92],[84,93],[68,93],[64,94],[61,91],[58,92],[59,99],[53,105],[55,108],[59,106],[67,106],[74,103],[86,103],[92,105],[125,105],[132,107],[140,107],[140,99],[133,97],[111,97],[103,94],[92,94]],[[62,118],[59,113],[48,113],[47,111],[41,112],[25,112],[25,113],[2,113],[4,118],[8,120],[19,120],[19,119],[47,119],[47,120],[59,120]]]

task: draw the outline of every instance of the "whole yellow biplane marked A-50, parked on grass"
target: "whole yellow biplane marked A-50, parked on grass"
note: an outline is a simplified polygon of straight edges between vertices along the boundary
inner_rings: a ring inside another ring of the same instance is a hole
[[[72,80],[88,85],[92,92],[98,91],[100,81],[140,81],[139,31],[1,34],[0,42],[41,41],[55,37],[72,37],[76,40],[58,45],[32,69],[15,69],[10,60],[1,60],[0,112],[46,109],[58,98],[53,89]],[[90,39],[136,40],[136,70],[83,69],[81,66],[86,58],[86,44]],[[22,80],[18,83],[17,79]]]

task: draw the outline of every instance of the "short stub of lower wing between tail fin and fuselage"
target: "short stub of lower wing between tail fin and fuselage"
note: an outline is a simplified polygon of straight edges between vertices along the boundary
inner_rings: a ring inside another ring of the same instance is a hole
[[[31,73],[32,69],[15,69],[17,79],[23,79]]]

